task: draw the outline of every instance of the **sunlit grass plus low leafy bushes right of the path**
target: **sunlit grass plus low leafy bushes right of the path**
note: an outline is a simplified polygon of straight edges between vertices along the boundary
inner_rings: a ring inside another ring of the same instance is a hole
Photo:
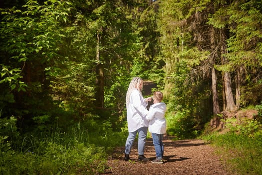
[[[245,120],[241,124],[235,120],[225,120],[228,132],[205,133],[202,138],[216,146],[216,153],[234,174],[262,174],[261,120]]]

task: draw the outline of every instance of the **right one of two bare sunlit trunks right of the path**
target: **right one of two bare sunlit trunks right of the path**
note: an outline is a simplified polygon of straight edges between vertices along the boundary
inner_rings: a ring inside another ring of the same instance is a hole
[[[227,57],[224,56],[226,53],[226,34],[223,29],[221,29],[221,56],[222,56],[222,64],[226,64],[228,62]],[[231,75],[229,71],[224,72],[224,82],[225,82],[225,95],[226,95],[226,110],[234,111],[237,109],[237,106],[234,102],[233,92],[231,88]]]

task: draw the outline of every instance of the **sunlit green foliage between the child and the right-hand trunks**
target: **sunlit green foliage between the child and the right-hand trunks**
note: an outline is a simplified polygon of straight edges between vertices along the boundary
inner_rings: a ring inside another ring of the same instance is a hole
[[[190,67],[199,64],[205,59],[204,55],[199,60],[191,61],[197,53],[193,50],[181,53],[181,60],[176,62],[172,78],[168,81],[171,88],[168,96],[168,132],[178,138],[194,138],[199,135],[206,122],[212,115],[210,101],[211,92],[209,82],[205,79],[194,77]],[[191,62],[191,63],[188,63]]]

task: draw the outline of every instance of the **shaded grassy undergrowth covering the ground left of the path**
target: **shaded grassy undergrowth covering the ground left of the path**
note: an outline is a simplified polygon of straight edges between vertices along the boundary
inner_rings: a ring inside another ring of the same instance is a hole
[[[16,119],[0,119],[0,174],[97,174],[125,135],[108,122],[88,120],[69,127],[36,127],[21,134]],[[42,125],[42,124],[41,124]]]

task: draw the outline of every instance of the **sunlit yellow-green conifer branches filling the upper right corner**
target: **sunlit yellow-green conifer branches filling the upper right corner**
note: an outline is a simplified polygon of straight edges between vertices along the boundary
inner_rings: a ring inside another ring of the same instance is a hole
[[[227,13],[231,37],[227,40],[229,52],[226,56],[231,70],[245,67],[245,79],[257,81],[262,74],[261,1],[236,1],[227,8]]]

